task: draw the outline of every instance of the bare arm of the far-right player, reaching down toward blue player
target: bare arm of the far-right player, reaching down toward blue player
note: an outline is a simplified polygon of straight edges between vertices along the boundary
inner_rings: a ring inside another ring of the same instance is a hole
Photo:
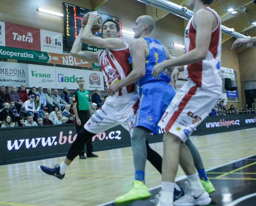
[[[177,57],[165,60],[154,66],[153,76],[158,78],[158,75],[168,66],[181,66],[194,64],[202,61],[207,57],[210,46],[212,30],[217,26],[215,15],[206,9],[202,9],[196,14],[194,25],[196,26],[196,48],[188,53]]]

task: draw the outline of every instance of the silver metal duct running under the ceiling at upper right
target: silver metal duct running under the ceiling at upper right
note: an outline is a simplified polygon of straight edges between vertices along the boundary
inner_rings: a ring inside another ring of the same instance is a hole
[[[137,0],[144,4],[149,4],[151,6],[155,6],[159,9],[162,9],[164,11],[170,12],[174,15],[177,15],[183,19],[189,20],[193,15],[194,12],[191,10],[188,10],[186,7],[180,6],[178,4],[174,4],[168,0]],[[234,36],[236,38],[248,38],[249,36],[245,36],[243,34],[240,34],[238,32],[235,32],[233,28],[228,28],[223,25],[221,25],[221,31],[222,33],[228,34],[230,36]]]

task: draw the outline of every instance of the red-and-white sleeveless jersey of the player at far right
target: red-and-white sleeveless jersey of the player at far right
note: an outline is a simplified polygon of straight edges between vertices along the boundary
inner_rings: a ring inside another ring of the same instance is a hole
[[[218,25],[212,30],[212,37],[206,59],[194,64],[186,65],[184,74],[186,78],[193,80],[199,87],[217,96],[222,93],[222,80],[219,75],[221,56],[221,20],[216,11],[205,7],[218,19]],[[199,10],[200,11],[200,10]],[[197,11],[198,12],[198,11]],[[196,12],[196,13],[197,13]],[[196,48],[195,15],[189,20],[185,30],[185,52]]]

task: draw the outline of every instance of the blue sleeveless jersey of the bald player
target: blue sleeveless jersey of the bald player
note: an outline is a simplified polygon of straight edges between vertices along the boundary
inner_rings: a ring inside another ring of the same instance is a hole
[[[165,71],[159,74],[159,79],[152,76],[153,67],[167,59],[164,47],[157,39],[150,37],[142,38],[148,45],[148,54],[146,57],[146,73],[137,83],[139,86],[153,82],[153,81],[165,81],[169,83],[171,81],[170,76],[165,74]],[[130,64],[132,64],[132,55],[130,55]]]

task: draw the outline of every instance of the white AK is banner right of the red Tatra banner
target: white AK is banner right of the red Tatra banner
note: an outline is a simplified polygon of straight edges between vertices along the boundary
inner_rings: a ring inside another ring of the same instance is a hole
[[[41,51],[63,53],[62,33],[40,29]]]

